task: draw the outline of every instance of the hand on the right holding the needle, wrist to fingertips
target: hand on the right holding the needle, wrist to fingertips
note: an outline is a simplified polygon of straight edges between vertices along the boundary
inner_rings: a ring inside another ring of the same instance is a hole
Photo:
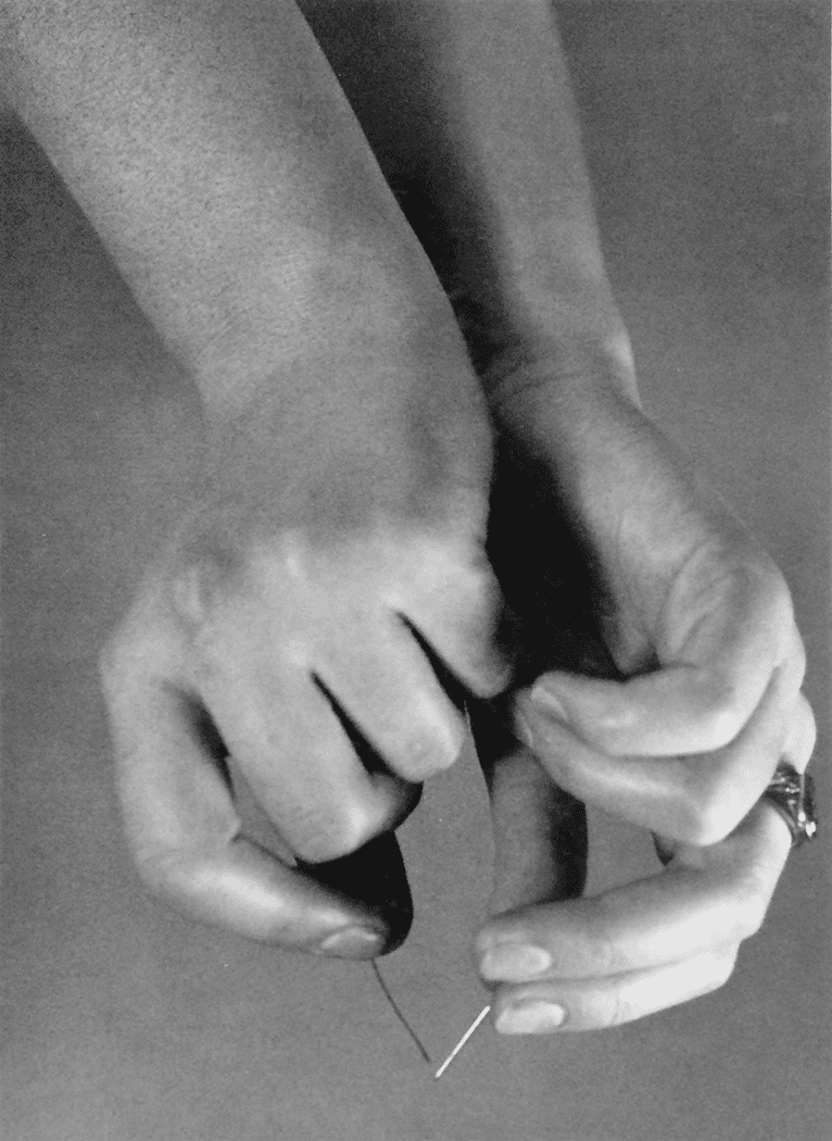
[[[514,738],[488,712],[476,731],[498,841],[476,953],[506,1033],[612,1026],[724,984],[790,845],[759,798],[778,760],[802,770],[815,742],[802,645],[768,557],[631,403],[587,399],[570,427],[563,405],[555,418],[527,395],[509,414],[496,510],[524,471],[536,549],[519,557],[496,520],[491,551],[508,601],[531,598],[516,637],[525,679],[539,677],[498,713]],[[571,630],[553,638],[558,606]],[[581,802],[653,832],[664,871],[577,898]]]

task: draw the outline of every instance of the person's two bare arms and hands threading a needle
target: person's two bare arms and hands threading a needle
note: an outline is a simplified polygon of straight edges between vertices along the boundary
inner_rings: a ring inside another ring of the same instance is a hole
[[[13,105],[205,406],[199,494],[103,655],[139,869],[252,938],[389,949],[406,889],[312,865],[413,810],[465,696],[498,1028],[713,989],[788,853],[754,806],[814,747],[804,652],[641,410],[548,8],[239,13],[2,6]],[[295,867],[240,832],[229,763]],[[663,871],[580,898],[582,802],[659,834]]]

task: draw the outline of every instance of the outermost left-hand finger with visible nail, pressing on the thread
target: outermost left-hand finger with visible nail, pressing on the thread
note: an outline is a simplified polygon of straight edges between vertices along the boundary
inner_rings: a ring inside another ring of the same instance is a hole
[[[366,905],[242,835],[191,703],[150,664],[176,656],[169,649],[137,645],[103,665],[125,831],[145,883],[194,917],[285,947],[365,958],[401,941],[403,871],[398,899],[388,884],[385,903]]]

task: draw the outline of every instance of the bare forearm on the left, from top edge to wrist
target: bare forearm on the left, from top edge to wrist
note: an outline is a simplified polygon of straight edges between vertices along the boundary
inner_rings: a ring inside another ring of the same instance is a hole
[[[293,3],[3,11],[14,106],[210,408],[256,403],[301,359],[346,383],[368,343],[450,327]]]

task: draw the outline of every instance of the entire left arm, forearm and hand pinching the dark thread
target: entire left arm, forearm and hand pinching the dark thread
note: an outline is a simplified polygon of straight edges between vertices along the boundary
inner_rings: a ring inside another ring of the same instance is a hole
[[[11,104],[209,420],[194,508],[103,661],[139,869],[256,938],[375,954],[407,889],[388,837],[398,881],[351,898],[361,845],[454,760],[446,689],[506,675],[451,307],[294,0],[10,10]],[[246,839],[237,778],[303,867]],[[352,884],[310,877],[345,853]]]

